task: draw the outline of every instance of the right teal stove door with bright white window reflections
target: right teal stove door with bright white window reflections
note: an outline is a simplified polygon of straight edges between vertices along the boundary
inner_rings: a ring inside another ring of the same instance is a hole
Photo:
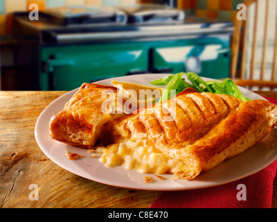
[[[208,78],[226,78],[229,77],[230,56],[228,42],[211,38],[159,46],[153,49],[152,60],[155,70],[193,71]]]

